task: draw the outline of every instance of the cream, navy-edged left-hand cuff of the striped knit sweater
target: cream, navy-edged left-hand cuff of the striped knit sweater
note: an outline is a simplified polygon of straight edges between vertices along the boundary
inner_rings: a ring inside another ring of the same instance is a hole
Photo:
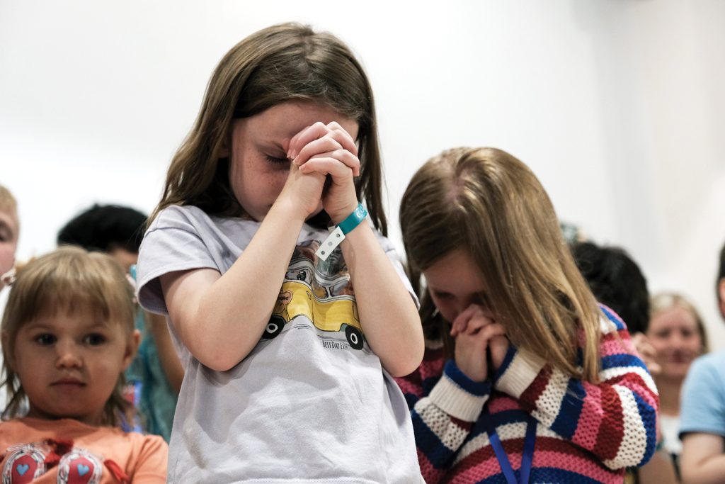
[[[464,422],[476,422],[489,398],[491,382],[474,382],[448,360],[441,379],[428,398],[451,417]]]

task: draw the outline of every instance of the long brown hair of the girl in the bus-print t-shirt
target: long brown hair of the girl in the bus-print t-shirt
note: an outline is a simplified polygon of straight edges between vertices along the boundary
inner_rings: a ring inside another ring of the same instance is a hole
[[[229,186],[231,123],[286,101],[320,102],[357,121],[360,176],[355,181],[373,224],[386,234],[382,170],[373,91],[355,56],[339,38],[284,23],[253,33],[219,62],[196,123],[171,161],[159,210],[196,205],[217,216],[243,216]]]

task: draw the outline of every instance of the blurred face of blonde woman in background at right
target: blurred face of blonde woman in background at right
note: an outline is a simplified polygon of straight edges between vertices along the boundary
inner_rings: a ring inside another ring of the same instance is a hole
[[[655,313],[647,328],[647,338],[657,351],[662,366],[660,377],[683,379],[692,360],[700,356],[703,341],[697,319],[684,308],[668,308]]]

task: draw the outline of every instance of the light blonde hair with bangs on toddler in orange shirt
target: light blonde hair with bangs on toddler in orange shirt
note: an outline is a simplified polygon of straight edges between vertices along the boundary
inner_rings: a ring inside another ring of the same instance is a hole
[[[104,321],[123,324],[127,334],[134,329],[133,288],[123,269],[109,255],[88,253],[80,247],[61,247],[33,259],[19,268],[8,296],[2,318],[3,373],[8,404],[3,419],[20,415],[25,390],[12,366],[17,333],[23,324],[43,315],[73,311],[92,311]],[[134,409],[123,398],[123,373],[116,382],[103,411],[103,424],[120,424],[120,417],[130,422]]]

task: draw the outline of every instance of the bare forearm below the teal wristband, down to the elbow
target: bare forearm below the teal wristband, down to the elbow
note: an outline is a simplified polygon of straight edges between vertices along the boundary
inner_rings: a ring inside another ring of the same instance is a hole
[[[370,347],[393,376],[413,372],[424,350],[413,298],[367,223],[349,232],[341,247]]]

